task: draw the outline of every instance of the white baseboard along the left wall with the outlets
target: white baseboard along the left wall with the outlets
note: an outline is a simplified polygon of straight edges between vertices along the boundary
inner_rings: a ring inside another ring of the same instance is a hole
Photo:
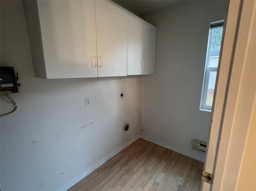
[[[80,180],[82,180],[84,177],[89,175],[92,171],[96,170],[100,165],[102,165],[103,163],[105,163],[106,161],[111,159],[113,156],[118,154],[120,151],[124,150],[126,147],[128,147],[130,144],[132,144],[134,141],[136,141],[139,138],[140,138],[140,135],[137,135],[136,137],[134,137],[132,140],[130,140],[129,142],[127,142],[126,144],[124,144],[123,146],[118,148],[117,150],[114,150],[112,153],[110,153],[108,156],[106,156],[103,159],[101,159],[100,161],[98,161],[96,164],[94,164],[88,170],[86,170],[85,172],[83,172],[79,176],[77,176],[74,179],[72,179],[69,183],[67,183],[66,185],[64,185],[60,189],[58,189],[58,191],[67,191],[72,186],[74,186],[76,183],[78,183]]]

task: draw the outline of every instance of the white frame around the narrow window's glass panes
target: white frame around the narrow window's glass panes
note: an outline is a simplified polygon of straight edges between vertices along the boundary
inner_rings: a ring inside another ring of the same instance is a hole
[[[212,43],[212,32],[211,32],[211,30],[213,28],[218,28],[218,27],[221,27],[221,26],[223,27],[223,23],[224,23],[224,20],[210,23],[208,43],[207,43],[207,52],[206,52],[206,60],[205,60],[205,67],[204,67],[204,80],[203,80],[202,94],[201,94],[201,101],[200,101],[200,108],[199,108],[199,110],[202,110],[202,111],[208,111],[208,112],[212,111],[212,106],[206,105],[208,85],[209,85],[209,79],[210,79],[210,72],[214,71],[214,72],[218,73],[218,68],[219,68],[219,61],[218,61],[218,67],[208,67],[209,60],[210,60],[210,45]],[[217,76],[218,75],[216,75],[215,87],[216,87],[216,83],[217,83]]]

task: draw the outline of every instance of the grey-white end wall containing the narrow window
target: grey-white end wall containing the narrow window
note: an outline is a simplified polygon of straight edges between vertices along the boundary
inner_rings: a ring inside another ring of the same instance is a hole
[[[156,75],[144,77],[140,134],[202,161],[192,139],[208,139],[210,112],[199,110],[208,32],[226,9],[226,1],[184,1],[144,17],[157,27],[157,48]]]

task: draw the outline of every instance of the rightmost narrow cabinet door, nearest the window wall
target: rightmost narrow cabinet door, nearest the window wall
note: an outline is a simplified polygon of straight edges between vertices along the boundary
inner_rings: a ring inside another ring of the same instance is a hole
[[[156,27],[146,23],[144,38],[144,74],[154,74],[156,68]]]

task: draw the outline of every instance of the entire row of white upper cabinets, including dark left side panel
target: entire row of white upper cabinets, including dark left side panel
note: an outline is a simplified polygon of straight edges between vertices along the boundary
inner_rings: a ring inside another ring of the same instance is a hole
[[[24,1],[35,76],[155,73],[156,28],[110,0]]]

